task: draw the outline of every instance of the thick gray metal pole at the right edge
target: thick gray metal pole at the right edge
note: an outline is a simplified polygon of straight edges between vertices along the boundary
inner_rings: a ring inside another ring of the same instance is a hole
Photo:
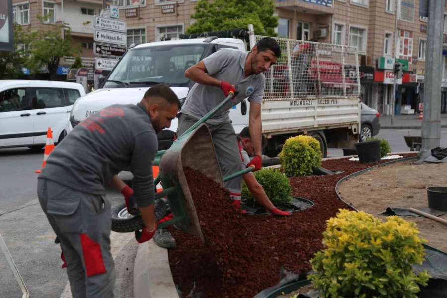
[[[424,118],[422,120],[422,154],[419,161],[431,156],[441,137],[441,79],[445,0],[429,0],[427,56],[425,58]]]

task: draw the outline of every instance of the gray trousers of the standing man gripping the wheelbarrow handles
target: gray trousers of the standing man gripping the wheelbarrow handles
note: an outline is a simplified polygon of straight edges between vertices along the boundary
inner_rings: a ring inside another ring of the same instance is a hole
[[[178,118],[177,136],[181,136],[188,128],[197,122],[197,119],[181,113]],[[213,138],[214,149],[219,160],[222,175],[228,176],[238,172],[242,168],[242,160],[237,144],[236,133],[231,123],[223,122],[218,125],[207,123]],[[236,177],[225,182],[225,188],[231,194],[233,200],[240,200],[242,192],[242,176]]]

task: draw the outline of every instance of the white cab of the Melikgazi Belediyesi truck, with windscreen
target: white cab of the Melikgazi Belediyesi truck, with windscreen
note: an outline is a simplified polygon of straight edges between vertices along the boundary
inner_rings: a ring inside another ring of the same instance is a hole
[[[70,114],[72,128],[109,105],[137,104],[150,87],[159,83],[168,84],[183,103],[194,85],[185,77],[185,70],[221,48],[245,51],[246,45],[240,39],[207,37],[131,46],[101,88],[76,100]],[[231,109],[234,125],[247,122],[240,119],[248,115],[247,109],[246,103]],[[242,130],[243,125],[240,126]],[[176,130],[177,119],[174,119],[171,127],[158,135],[159,150],[170,147]]]

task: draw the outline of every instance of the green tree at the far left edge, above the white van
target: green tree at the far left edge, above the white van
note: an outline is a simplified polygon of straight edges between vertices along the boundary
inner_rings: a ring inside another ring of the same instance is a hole
[[[14,23],[14,51],[0,51],[0,79],[23,76],[22,68],[29,56],[29,35],[22,26]]]

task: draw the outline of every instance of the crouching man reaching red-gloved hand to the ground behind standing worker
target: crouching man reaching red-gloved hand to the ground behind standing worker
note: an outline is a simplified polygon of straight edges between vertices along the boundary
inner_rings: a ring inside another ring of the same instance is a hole
[[[244,164],[243,168],[245,168],[247,166],[247,164],[250,162],[249,156],[254,154],[254,145],[251,142],[250,131],[248,130],[248,127],[245,127],[239,133],[239,135],[237,136],[237,141],[239,143],[240,157],[242,158],[242,163]],[[269,210],[271,214],[277,215],[277,216],[292,215],[291,212],[279,210],[272,204],[272,202],[267,197],[267,194],[265,193],[264,188],[256,180],[256,177],[253,174],[253,172],[243,175],[242,178],[243,178],[245,184],[247,185],[248,190],[250,190],[251,194],[255,198],[255,200],[261,206],[263,206],[267,210]],[[235,200],[233,204],[235,204],[237,207],[239,207],[240,206],[240,198],[239,198],[239,200]],[[242,213],[244,213],[244,210],[242,210]]]

